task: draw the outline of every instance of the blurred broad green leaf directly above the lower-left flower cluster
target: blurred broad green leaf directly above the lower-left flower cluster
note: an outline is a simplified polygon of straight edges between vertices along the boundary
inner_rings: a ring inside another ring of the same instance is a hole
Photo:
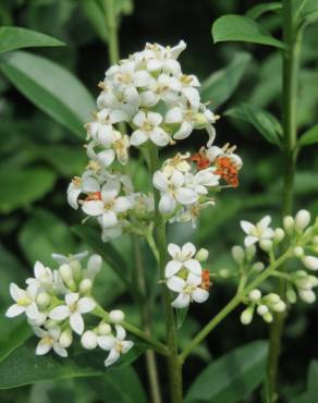
[[[30,218],[19,234],[19,243],[30,265],[40,260],[45,265],[56,261],[52,253],[69,255],[75,253],[75,242],[72,233],[60,218],[53,213],[34,209]]]

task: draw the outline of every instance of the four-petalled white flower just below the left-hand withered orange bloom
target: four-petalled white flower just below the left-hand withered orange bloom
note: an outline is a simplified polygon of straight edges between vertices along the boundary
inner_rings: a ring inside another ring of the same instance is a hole
[[[107,182],[100,190],[100,199],[85,200],[82,205],[87,216],[101,216],[103,228],[118,224],[118,215],[127,211],[132,205],[127,197],[119,196],[120,184]]]

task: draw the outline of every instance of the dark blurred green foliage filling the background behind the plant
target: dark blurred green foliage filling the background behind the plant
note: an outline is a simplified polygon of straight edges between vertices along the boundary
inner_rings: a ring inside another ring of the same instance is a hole
[[[203,82],[213,74],[212,85],[203,93],[203,97],[205,100],[210,99],[211,108],[222,117],[217,123],[217,145],[222,146],[227,142],[237,145],[237,152],[244,160],[240,187],[222,192],[218,196],[217,206],[204,211],[196,231],[189,225],[180,224],[170,229],[169,236],[176,243],[193,240],[198,245],[208,247],[210,268],[213,271],[228,269],[231,274],[233,264],[230,248],[242,242],[240,219],[257,220],[261,215],[270,212],[273,220],[279,222],[282,161],[278,148],[269,144],[253,125],[233,119],[231,113],[227,115],[227,111],[241,102],[249,102],[255,107],[266,108],[280,119],[280,54],[270,48],[253,45],[212,42],[210,27],[217,17],[225,13],[243,14],[255,5],[255,1],[136,0],[132,3],[130,0],[119,0],[119,3],[122,57],[140,50],[146,41],[173,46],[184,39],[187,49],[181,57],[183,70],[196,74]],[[279,14],[265,14],[261,20],[273,35],[279,33]],[[27,51],[46,57],[73,72],[96,98],[99,93],[97,84],[109,66],[108,49],[102,40],[102,37],[107,37],[107,32],[97,30],[91,24],[85,1],[1,0],[0,23],[27,27],[64,41],[65,47]],[[305,33],[302,51],[298,94],[301,132],[318,121],[317,47],[318,26],[314,24]],[[23,59],[20,63],[23,64]],[[28,69],[33,69],[32,64]],[[49,71],[42,71],[41,80],[54,85]],[[36,108],[1,72],[0,135],[1,343],[13,326],[2,315],[10,303],[9,283],[22,283],[32,272],[37,259],[52,264],[52,252],[76,253],[87,246],[71,231],[73,225],[81,222],[82,217],[81,212],[72,210],[65,197],[71,176],[81,173],[86,164],[83,138]],[[203,132],[196,132],[182,142],[180,147],[183,150],[197,150],[206,139]],[[143,187],[145,168],[135,162],[134,170],[135,178]],[[317,146],[304,148],[299,155],[295,181],[295,209],[307,208],[313,215],[318,215],[317,172]],[[130,239],[123,237],[117,241],[117,245],[124,252],[127,261],[131,261],[133,251]],[[145,260],[147,266],[154,266],[147,252]],[[151,276],[155,276],[154,270],[149,268],[149,283]],[[231,281],[223,280],[211,289],[208,304],[193,306],[181,342],[186,343],[224,305],[231,293]],[[123,307],[129,317],[137,317],[124,286],[109,267],[100,276],[98,296],[102,304]],[[317,305],[308,307],[299,303],[288,318],[280,374],[280,391],[285,402],[292,402],[292,398],[305,389],[309,362],[318,358],[317,314]],[[163,329],[158,326],[155,331],[162,334]],[[243,327],[238,321],[238,313],[235,312],[210,334],[206,345],[189,358],[184,373],[185,388],[212,357],[247,341],[266,339],[267,334],[268,327],[260,319],[255,319],[249,327]],[[159,359],[159,366],[163,365],[163,361]],[[140,358],[136,368],[142,382],[146,383],[144,367]],[[166,383],[164,377],[161,381],[162,384]],[[100,394],[93,393],[87,388],[85,381],[60,382],[59,388],[52,383],[44,383],[0,391],[0,401],[53,402],[61,393],[63,401],[68,396],[68,402],[120,402],[115,394],[113,400],[102,400]],[[105,393],[107,395],[110,392]],[[254,399],[258,402],[257,396]]]

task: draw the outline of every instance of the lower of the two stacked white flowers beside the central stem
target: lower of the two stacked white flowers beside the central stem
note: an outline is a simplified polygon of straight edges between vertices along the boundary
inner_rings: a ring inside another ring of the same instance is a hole
[[[191,302],[204,303],[208,300],[208,291],[201,289],[199,285],[201,278],[189,273],[186,280],[173,276],[167,280],[167,285],[170,290],[178,292],[178,297],[172,302],[174,308],[186,308]]]

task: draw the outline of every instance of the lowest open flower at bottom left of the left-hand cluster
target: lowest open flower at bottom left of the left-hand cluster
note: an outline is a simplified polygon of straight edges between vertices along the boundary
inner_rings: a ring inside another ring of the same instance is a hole
[[[59,327],[53,327],[49,330],[36,327],[33,328],[33,330],[35,334],[41,339],[36,346],[36,355],[45,355],[53,349],[53,351],[61,357],[68,356],[66,350],[59,342],[61,335],[61,329]]]

